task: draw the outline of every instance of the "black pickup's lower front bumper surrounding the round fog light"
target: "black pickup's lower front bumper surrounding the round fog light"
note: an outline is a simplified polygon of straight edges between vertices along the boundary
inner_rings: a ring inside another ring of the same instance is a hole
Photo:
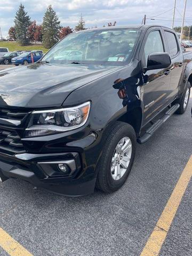
[[[96,178],[82,175],[82,160],[79,153],[18,154],[9,156],[0,153],[0,178],[25,180],[35,187],[67,196],[82,196],[93,193]],[[49,159],[49,160],[47,160]],[[71,172],[65,175],[57,169],[65,163]],[[56,170],[56,171],[55,171]]]

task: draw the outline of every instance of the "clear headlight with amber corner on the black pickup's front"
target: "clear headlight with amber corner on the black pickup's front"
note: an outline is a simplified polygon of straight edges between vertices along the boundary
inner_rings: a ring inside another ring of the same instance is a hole
[[[72,108],[33,111],[26,129],[26,137],[77,129],[86,123],[90,105],[91,103],[88,101]]]

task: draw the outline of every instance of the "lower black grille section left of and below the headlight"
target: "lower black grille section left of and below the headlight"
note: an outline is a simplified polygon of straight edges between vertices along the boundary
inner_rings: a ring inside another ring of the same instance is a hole
[[[0,129],[0,151],[10,155],[25,152],[21,138],[16,131]]]

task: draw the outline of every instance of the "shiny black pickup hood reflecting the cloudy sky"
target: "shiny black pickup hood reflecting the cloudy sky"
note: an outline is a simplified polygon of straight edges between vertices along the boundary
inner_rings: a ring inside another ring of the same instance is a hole
[[[44,63],[5,69],[0,72],[0,107],[60,107],[72,91],[117,69]]]

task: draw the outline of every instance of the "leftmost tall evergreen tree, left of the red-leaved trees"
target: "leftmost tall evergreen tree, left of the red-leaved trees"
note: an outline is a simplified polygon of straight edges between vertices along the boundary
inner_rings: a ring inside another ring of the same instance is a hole
[[[30,25],[30,18],[27,15],[27,12],[25,12],[25,7],[22,4],[20,4],[19,9],[16,12],[14,23],[18,43],[20,45],[28,44],[27,30]]]

